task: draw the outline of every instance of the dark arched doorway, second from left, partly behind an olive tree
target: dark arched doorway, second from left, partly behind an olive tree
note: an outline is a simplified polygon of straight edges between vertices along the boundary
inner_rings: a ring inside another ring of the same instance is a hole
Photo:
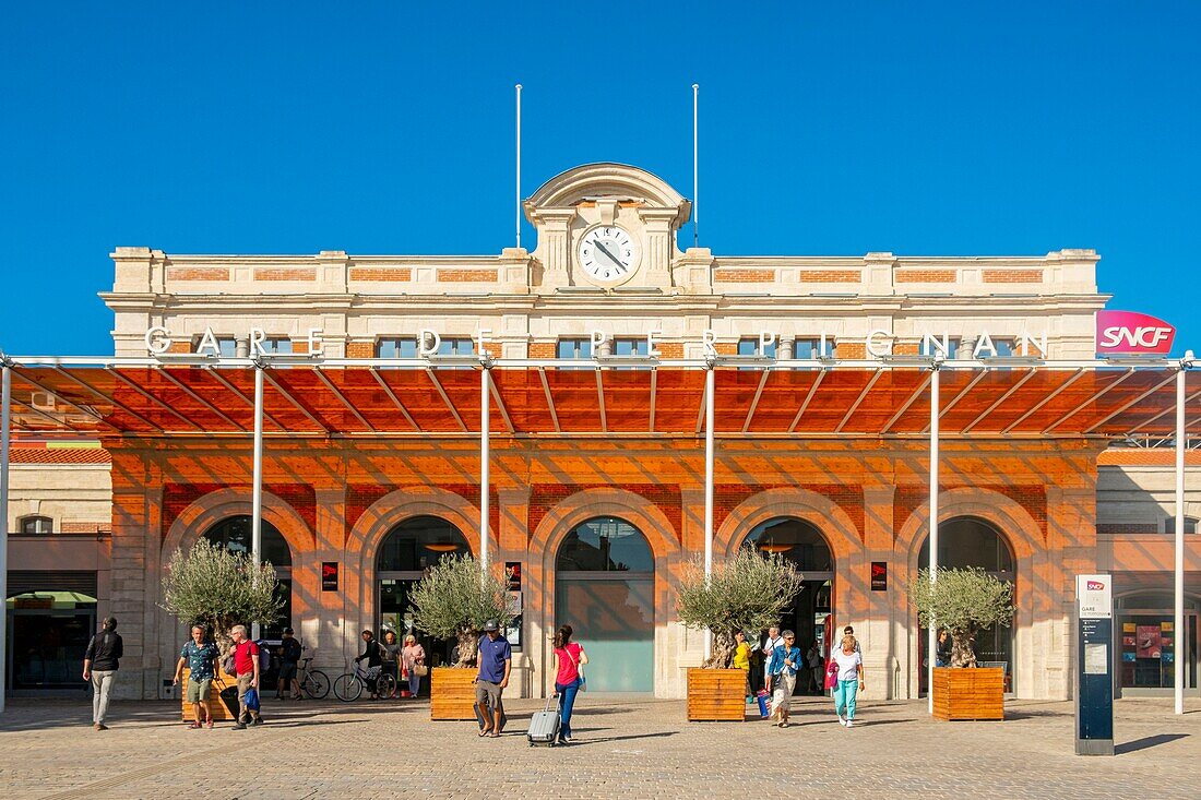
[[[376,631],[395,631],[404,641],[412,626],[408,595],[413,585],[443,556],[471,555],[462,531],[441,517],[411,517],[395,525],[376,553]],[[418,633],[432,667],[450,658],[454,643]]]

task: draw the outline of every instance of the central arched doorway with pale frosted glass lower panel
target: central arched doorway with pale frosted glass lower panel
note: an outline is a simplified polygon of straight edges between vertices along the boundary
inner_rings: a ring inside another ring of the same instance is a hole
[[[655,554],[641,531],[616,517],[582,523],[558,545],[555,627],[570,625],[604,664],[590,692],[655,691]]]

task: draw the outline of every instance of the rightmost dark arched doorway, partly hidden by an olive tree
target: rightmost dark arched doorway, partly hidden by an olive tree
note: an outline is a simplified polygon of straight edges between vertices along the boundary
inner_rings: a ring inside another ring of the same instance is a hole
[[[930,563],[930,536],[921,543],[918,555],[918,567]],[[938,526],[938,566],[944,568],[979,567],[998,580],[1016,585],[1017,567],[1014,551],[1009,548],[1004,535],[986,520],[976,517],[956,517]],[[988,665],[1005,669],[1005,692],[1014,691],[1014,626],[994,625],[976,634],[976,663],[991,662]],[[926,692],[926,646],[930,641],[926,628],[920,628],[918,647],[921,653],[921,670],[918,685],[920,693]]]

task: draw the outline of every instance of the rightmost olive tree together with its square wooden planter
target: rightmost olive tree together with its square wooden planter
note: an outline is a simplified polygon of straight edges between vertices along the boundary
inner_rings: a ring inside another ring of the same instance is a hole
[[[976,668],[973,643],[984,628],[1012,625],[1012,584],[979,567],[940,568],[937,580],[930,579],[928,569],[921,569],[909,586],[909,597],[922,626],[945,628],[951,637],[950,667],[934,668],[934,717],[1003,720],[1005,670]]]

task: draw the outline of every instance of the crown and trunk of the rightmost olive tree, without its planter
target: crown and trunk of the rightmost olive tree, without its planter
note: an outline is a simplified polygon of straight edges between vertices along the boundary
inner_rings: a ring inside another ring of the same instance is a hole
[[[939,568],[938,580],[930,571],[918,572],[909,585],[909,601],[918,609],[922,626],[937,625],[951,634],[951,667],[974,667],[972,643],[981,629],[1014,622],[1014,586],[997,580],[979,567]]]

